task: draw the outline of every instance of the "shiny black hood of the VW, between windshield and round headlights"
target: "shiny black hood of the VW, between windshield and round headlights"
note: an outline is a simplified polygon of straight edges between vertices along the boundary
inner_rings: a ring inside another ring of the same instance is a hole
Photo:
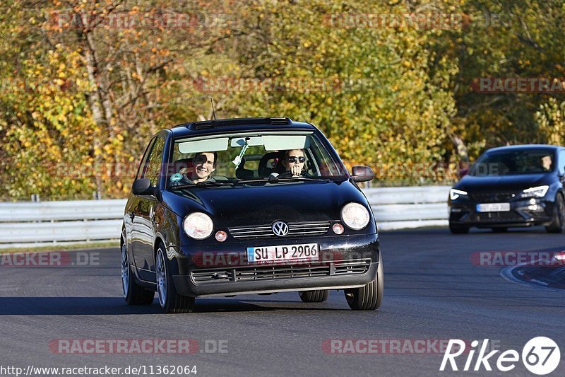
[[[264,186],[191,187],[163,192],[163,202],[177,215],[209,214],[215,228],[270,224],[276,220],[332,221],[348,202],[369,207],[350,181],[284,182]]]

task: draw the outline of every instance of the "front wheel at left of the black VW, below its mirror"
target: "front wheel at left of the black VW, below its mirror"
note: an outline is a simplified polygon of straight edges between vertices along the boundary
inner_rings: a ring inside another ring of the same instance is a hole
[[[165,246],[157,246],[155,255],[155,272],[157,274],[157,298],[165,313],[190,313],[194,309],[194,297],[182,296],[174,288],[171,265],[165,253]]]

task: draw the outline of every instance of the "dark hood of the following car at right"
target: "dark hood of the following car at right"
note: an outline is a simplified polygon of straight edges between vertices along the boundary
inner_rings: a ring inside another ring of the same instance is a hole
[[[549,185],[552,181],[551,173],[504,175],[501,177],[477,177],[465,175],[453,188],[468,192],[524,190],[530,187]]]

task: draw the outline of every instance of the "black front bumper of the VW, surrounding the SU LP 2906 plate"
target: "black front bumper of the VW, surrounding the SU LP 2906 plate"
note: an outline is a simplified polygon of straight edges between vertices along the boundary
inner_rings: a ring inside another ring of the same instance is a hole
[[[259,265],[248,262],[243,251],[248,246],[299,243],[318,243],[319,260]],[[174,257],[172,279],[179,294],[227,296],[354,288],[373,281],[381,262],[378,234],[246,240],[222,247],[183,248],[182,255]]]

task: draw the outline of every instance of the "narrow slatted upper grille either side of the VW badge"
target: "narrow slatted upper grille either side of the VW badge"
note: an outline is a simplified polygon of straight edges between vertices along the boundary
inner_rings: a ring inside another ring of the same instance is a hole
[[[302,222],[302,223],[288,223],[288,233],[285,237],[300,237],[300,236],[321,236],[328,232],[330,223],[328,221],[321,222]],[[237,226],[227,228],[234,238],[249,239],[249,238],[274,238],[277,237],[273,233],[270,224],[256,225],[256,226]]]

